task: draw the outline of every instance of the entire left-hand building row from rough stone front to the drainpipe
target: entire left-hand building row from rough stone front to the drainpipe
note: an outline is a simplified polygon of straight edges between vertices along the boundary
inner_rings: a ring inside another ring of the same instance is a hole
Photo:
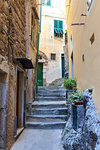
[[[34,97],[40,17],[38,4],[38,0],[0,0],[1,150],[9,150],[23,131],[25,104]]]

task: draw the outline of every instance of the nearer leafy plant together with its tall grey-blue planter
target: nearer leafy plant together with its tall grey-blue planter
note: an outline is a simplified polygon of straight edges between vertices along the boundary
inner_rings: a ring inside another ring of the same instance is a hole
[[[71,116],[73,121],[73,129],[77,130],[83,126],[84,122],[84,107],[83,107],[83,92],[73,92],[68,101],[71,103]]]

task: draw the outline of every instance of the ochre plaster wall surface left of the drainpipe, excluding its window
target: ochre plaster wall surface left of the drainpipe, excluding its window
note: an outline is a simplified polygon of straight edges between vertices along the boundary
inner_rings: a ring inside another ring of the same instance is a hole
[[[27,103],[29,101],[32,101],[32,99],[35,96],[35,91],[36,91],[36,58],[37,58],[37,44],[38,44],[38,32],[39,32],[39,19],[36,19],[35,13],[32,9],[32,7],[35,7],[36,12],[38,14],[38,17],[40,18],[40,5],[37,5],[40,3],[40,0],[30,0],[27,2],[26,7],[28,7],[28,10],[26,10],[26,13],[28,14],[28,18],[26,18],[26,26],[28,29],[27,33],[27,39],[29,46],[27,49],[26,55],[32,60],[34,69],[28,70],[28,79],[27,79]],[[33,14],[33,19],[34,19],[34,43],[31,41],[31,21],[32,21],[32,14]]]

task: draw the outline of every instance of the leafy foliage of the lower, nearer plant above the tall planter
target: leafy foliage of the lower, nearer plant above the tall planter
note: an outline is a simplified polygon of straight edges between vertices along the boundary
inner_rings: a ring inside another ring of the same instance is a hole
[[[75,103],[82,103],[83,102],[83,99],[82,99],[82,95],[83,95],[83,92],[73,92],[70,96],[69,96],[69,99],[68,101],[71,102],[72,104],[75,104]]]

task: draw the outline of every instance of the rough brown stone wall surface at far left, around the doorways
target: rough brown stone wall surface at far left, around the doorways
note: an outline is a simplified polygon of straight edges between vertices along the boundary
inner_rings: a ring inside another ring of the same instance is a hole
[[[17,57],[26,56],[25,40],[25,1],[11,1],[12,13],[9,14],[9,4],[0,0],[0,25],[8,31],[9,18],[11,19],[10,35],[15,40],[18,48],[13,46]],[[1,28],[0,28],[1,29]],[[4,57],[2,57],[4,56]],[[6,149],[9,150],[16,140],[14,138],[15,128],[15,101],[16,101],[16,65],[12,60],[12,48],[10,49],[8,64],[8,40],[3,30],[0,30],[0,70],[7,73],[7,120],[6,120]],[[0,120],[2,122],[2,120]]]

